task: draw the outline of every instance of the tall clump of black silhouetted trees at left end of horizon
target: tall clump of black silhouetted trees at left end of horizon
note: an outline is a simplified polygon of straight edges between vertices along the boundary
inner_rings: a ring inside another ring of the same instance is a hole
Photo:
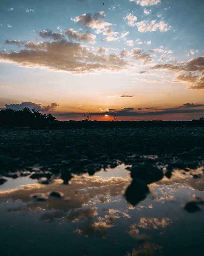
[[[0,108],[0,126],[10,127],[53,127],[57,126],[56,117],[51,114],[42,114],[38,110],[30,108],[14,110],[12,108]]]

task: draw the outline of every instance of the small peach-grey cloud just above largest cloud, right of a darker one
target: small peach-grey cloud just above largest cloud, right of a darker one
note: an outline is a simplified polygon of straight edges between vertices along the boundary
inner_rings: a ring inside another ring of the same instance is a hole
[[[75,31],[72,28],[69,28],[64,31],[65,34],[69,37],[69,40],[76,40],[76,41],[84,41],[88,42],[90,44],[95,44],[96,43],[96,36],[90,33],[79,33]]]

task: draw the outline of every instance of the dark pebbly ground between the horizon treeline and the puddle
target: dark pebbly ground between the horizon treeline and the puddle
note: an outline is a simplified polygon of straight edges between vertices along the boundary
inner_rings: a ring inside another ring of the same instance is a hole
[[[0,130],[1,174],[13,178],[35,171],[33,178],[61,175],[67,182],[71,173],[91,175],[121,163],[149,163],[171,176],[203,160],[203,127]]]

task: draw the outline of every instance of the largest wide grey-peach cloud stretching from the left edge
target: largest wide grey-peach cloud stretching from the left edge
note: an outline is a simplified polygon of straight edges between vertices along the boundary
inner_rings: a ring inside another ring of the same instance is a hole
[[[74,74],[120,71],[128,62],[115,53],[97,55],[79,43],[65,39],[55,42],[26,42],[25,48],[0,52],[0,61],[12,62],[25,67],[49,68]]]

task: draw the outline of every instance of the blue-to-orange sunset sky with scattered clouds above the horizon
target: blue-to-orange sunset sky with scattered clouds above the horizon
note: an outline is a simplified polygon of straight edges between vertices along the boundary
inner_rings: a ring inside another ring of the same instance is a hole
[[[203,0],[1,0],[0,108],[204,116]]]

